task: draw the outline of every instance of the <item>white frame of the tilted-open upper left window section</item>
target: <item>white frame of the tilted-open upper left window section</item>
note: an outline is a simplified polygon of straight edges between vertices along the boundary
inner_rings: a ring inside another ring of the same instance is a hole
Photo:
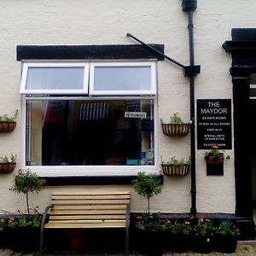
[[[84,84],[83,89],[76,90],[28,90],[26,89],[26,79],[28,69],[30,67],[84,67]],[[20,84],[20,94],[55,94],[55,95],[88,95],[88,84],[89,84],[89,63],[84,62],[71,62],[71,63],[24,63],[22,67],[22,76]]]

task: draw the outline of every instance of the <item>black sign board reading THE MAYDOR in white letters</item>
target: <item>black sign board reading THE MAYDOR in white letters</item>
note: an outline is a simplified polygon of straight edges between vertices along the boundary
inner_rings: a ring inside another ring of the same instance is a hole
[[[231,100],[197,100],[197,148],[231,149]]]

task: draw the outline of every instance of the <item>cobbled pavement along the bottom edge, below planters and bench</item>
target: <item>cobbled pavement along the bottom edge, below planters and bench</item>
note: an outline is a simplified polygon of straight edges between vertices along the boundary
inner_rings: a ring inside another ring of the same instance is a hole
[[[11,250],[9,249],[0,249],[0,256],[36,256],[37,253],[13,253]],[[60,256],[67,256],[67,255],[83,255],[82,253],[79,254],[68,254],[68,253],[57,253],[57,254],[46,254],[45,256],[56,256],[56,255],[60,255]],[[88,254],[84,254],[84,255],[88,255]],[[104,254],[102,253],[102,255],[105,256],[121,256],[121,254]],[[191,253],[191,252],[187,252],[187,253],[164,253],[163,256],[206,256],[206,255],[210,255],[210,256],[242,256],[242,255],[246,255],[246,256],[256,256],[256,241],[238,241],[237,247],[236,247],[236,253],[218,253],[218,252],[212,252],[209,254],[201,254],[201,253]],[[94,254],[93,256],[97,256],[96,254]],[[100,255],[99,255],[100,256]],[[131,256],[139,256],[139,254],[131,254]]]

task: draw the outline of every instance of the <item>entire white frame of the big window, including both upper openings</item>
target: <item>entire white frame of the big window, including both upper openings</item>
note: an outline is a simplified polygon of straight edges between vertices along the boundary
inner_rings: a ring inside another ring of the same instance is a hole
[[[37,96],[38,94],[44,95],[49,94],[45,90],[24,90],[26,86],[26,74],[22,75],[21,78],[21,85],[23,86],[23,90],[20,89],[20,94],[23,94],[22,96],[22,160],[21,164],[24,168],[29,168],[32,170],[32,172],[36,172],[39,177],[75,177],[75,176],[93,176],[93,177],[109,177],[109,176],[134,176],[137,175],[137,172],[146,172],[148,174],[160,173],[160,166],[159,166],[159,156],[158,156],[158,116],[157,116],[157,97],[154,96],[156,93],[156,64],[154,62],[124,62],[118,64],[124,66],[124,67],[135,67],[134,64],[137,63],[138,66],[145,66],[145,63],[150,63],[151,65],[151,79],[152,79],[152,86],[154,90],[150,90],[149,95],[142,95],[142,96],[130,96],[125,93],[127,96],[114,96],[112,94],[112,91],[108,91],[108,96]],[[81,64],[81,66],[78,66],[78,64]],[[99,64],[99,66],[102,66],[102,62],[93,63]],[[117,66],[117,62],[108,62],[104,63],[106,66]],[[140,64],[140,65],[139,65]],[[63,66],[62,66],[63,65]],[[44,62],[44,63],[23,63],[23,73],[27,73],[28,67],[87,67],[89,65],[89,62],[87,63],[51,63],[51,62]],[[153,69],[153,71],[152,71]],[[88,68],[89,70],[89,68]],[[85,72],[84,72],[85,73]],[[89,75],[89,73],[87,73]],[[91,75],[91,74],[90,74]],[[88,88],[88,87],[87,87]],[[90,86],[89,86],[90,88]],[[52,90],[51,90],[52,91]],[[60,90],[58,90],[60,94]],[[84,92],[84,90],[83,90]],[[111,92],[111,96],[110,96]],[[148,91],[149,92],[149,91]],[[153,93],[154,92],[154,93]],[[56,93],[55,93],[56,94]],[[61,94],[67,94],[63,91]],[[68,90],[68,95],[75,95],[70,90]],[[84,93],[83,93],[84,94]],[[33,96],[34,95],[34,96]],[[116,100],[134,100],[134,99],[152,99],[154,100],[154,165],[153,166],[26,166],[26,100],[45,100],[45,99],[62,99],[62,100],[108,100],[108,99],[116,99]]]

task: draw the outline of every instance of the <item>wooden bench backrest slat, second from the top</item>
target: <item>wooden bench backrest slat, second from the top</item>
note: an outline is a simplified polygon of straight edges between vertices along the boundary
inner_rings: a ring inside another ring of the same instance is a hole
[[[130,200],[59,200],[59,201],[52,201],[54,205],[114,205],[114,204],[128,204]]]

